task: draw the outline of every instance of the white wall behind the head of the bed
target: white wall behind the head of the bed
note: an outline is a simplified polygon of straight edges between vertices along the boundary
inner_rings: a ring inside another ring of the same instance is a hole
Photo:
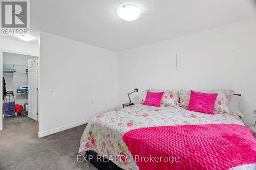
[[[154,33],[152,33],[154,34]],[[178,70],[176,70],[176,54]],[[139,102],[148,88],[233,89],[244,96],[243,121],[256,110],[256,18],[119,53],[118,102]]]

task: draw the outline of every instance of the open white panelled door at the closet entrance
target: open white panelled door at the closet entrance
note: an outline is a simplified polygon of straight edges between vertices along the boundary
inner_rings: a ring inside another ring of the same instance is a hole
[[[38,61],[37,59],[28,60],[28,85],[29,85],[29,102],[28,116],[37,121],[37,91],[38,91]]]

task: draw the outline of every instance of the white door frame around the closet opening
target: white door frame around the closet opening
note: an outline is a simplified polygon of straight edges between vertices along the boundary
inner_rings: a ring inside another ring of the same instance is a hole
[[[11,50],[4,50],[0,49],[0,76],[3,77],[3,53],[14,53],[14,54],[22,54],[22,55],[27,55],[27,56],[33,56],[37,57],[38,59],[38,94],[37,94],[37,110],[38,110],[38,132],[40,132],[39,124],[40,124],[40,112],[39,112],[39,103],[40,103],[40,57],[39,55],[31,54],[31,53],[24,53],[24,52],[17,52],[17,51],[11,51]],[[0,79],[0,89],[3,89],[3,79]],[[0,98],[3,99],[3,92],[0,92]],[[0,100],[0,131],[3,130],[3,100]]]

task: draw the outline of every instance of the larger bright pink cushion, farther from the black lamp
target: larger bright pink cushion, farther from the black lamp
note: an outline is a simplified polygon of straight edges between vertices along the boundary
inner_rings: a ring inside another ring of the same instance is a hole
[[[217,93],[201,93],[191,90],[187,110],[214,114],[214,104],[217,95]]]

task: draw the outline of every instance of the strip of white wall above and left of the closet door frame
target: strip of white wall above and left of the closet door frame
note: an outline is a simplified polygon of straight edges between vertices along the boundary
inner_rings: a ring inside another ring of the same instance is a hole
[[[21,41],[15,41],[15,40],[10,40],[6,38],[0,38],[0,50],[2,51],[10,51],[10,52],[17,52],[21,54],[27,54],[27,55],[33,55],[33,56],[38,56],[39,55],[39,47],[38,45],[35,44],[30,44],[26,42],[21,42]],[[3,66],[3,55],[2,52],[0,53],[0,76],[2,77],[2,66]],[[3,80],[0,79],[0,89],[3,87]],[[0,93],[0,98],[2,98],[2,92]],[[0,114],[2,116],[2,101],[0,102]],[[3,127],[3,120],[0,118],[0,130],[2,130]]]

